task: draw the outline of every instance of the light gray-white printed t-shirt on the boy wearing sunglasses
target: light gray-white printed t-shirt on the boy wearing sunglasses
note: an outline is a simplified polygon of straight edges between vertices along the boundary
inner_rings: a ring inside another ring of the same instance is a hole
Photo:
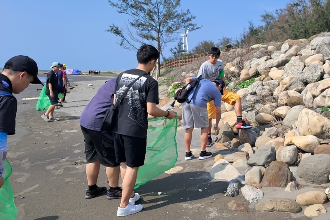
[[[205,61],[199,68],[197,77],[202,76],[204,79],[208,79],[213,82],[215,79],[221,79],[223,77],[221,71],[223,72],[222,60],[217,60],[215,64]],[[222,76],[220,76],[220,74]]]

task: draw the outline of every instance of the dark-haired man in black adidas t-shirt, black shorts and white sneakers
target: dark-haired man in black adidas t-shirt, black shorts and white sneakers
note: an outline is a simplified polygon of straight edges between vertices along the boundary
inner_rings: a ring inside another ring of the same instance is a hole
[[[111,130],[114,137],[116,162],[121,163],[124,173],[122,196],[117,208],[117,216],[126,216],[143,209],[135,205],[140,198],[138,193],[132,195],[139,167],[144,165],[147,150],[148,113],[155,117],[178,117],[174,111],[163,111],[157,108],[158,82],[148,75],[156,66],[159,52],[151,45],[143,45],[137,52],[138,67],[120,73],[115,85],[115,103],[120,101],[118,113]],[[129,92],[126,88],[138,77]]]

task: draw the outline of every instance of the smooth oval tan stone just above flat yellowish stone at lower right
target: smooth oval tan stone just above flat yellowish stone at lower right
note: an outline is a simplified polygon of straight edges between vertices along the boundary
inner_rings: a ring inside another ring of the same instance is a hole
[[[327,201],[327,195],[320,191],[309,191],[305,193],[300,193],[296,202],[302,206],[314,205],[314,204],[324,204]]]

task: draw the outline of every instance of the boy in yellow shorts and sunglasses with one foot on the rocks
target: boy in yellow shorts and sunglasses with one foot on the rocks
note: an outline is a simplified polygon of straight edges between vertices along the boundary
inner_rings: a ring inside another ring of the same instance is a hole
[[[205,79],[210,80],[211,82],[215,79],[222,79],[226,81],[223,71],[223,62],[218,60],[220,56],[220,50],[217,47],[211,47],[209,51],[209,60],[202,63],[199,68],[198,76],[202,76]],[[242,99],[239,95],[234,92],[229,91],[228,89],[223,89],[222,101],[228,103],[229,105],[234,106],[234,110],[237,117],[236,128],[237,129],[249,129],[252,126],[245,123],[242,119]],[[212,118],[215,118],[215,105],[214,101],[211,101],[207,104],[207,110],[209,114],[209,130],[208,130],[208,141],[206,146],[209,147],[212,144],[211,138],[211,128],[212,128]]]

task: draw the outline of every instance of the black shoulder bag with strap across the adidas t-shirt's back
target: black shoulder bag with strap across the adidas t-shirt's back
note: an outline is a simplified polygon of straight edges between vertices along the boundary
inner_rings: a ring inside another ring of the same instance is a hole
[[[126,88],[125,92],[122,94],[120,99],[117,100],[116,105],[111,105],[111,107],[105,112],[102,125],[101,125],[101,131],[107,131],[109,132],[110,130],[113,129],[114,127],[114,118],[117,115],[117,108],[121,101],[124,99],[125,95],[127,94],[128,90],[134,85],[134,83],[140,79],[143,75],[139,76],[136,78],[129,86]]]

